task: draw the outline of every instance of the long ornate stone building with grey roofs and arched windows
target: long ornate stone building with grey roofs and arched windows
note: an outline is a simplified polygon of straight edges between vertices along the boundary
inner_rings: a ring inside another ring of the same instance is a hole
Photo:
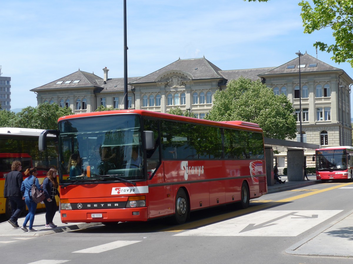
[[[124,78],[108,78],[108,71],[105,67],[101,78],[78,70],[31,91],[37,93],[38,104],[58,103],[75,114],[93,112],[100,105],[123,109]],[[275,94],[287,96],[297,116],[298,137],[294,140],[300,141],[301,117],[303,142],[322,147],[352,145],[353,80],[342,69],[309,54],[300,57],[300,66],[296,57],[279,67],[241,70],[221,70],[205,57],[179,58],[149,75],[129,77],[128,108],[168,113],[178,107],[204,118],[213,105],[215,92],[226,89],[228,81],[240,76],[260,79]],[[311,157],[312,153],[305,155]],[[279,167],[286,166],[285,153],[277,155],[277,159]]]

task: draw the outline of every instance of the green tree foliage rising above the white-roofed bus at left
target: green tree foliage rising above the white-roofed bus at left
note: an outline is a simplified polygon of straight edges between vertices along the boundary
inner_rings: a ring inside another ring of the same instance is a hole
[[[58,127],[58,119],[64,115],[71,114],[71,108],[61,108],[56,103],[42,103],[37,107],[29,106],[23,108],[21,112],[16,114],[14,112],[1,110],[0,126],[56,129]]]

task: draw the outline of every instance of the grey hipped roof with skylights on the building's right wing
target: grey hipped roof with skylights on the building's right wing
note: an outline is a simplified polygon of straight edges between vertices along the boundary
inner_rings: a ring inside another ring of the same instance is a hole
[[[301,73],[309,73],[309,72],[319,72],[319,71],[335,71],[335,70],[342,70],[336,67],[333,67],[327,63],[320,61],[313,56],[310,56],[305,52],[303,56],[300,56],[300,64],[305,65],[305,67],[300,68]],[[317,64],[315,67],[309,67],[309,64]],[[288,67],[289,66],[289,67]],[[259,74],[259,77],[262,75],[271,75],[271,74],[297,74],[299,72],[299,57],[292,59],[291,61],[282,64],[279,67],[276,67],[272,70],[266,71],[262,74]]]

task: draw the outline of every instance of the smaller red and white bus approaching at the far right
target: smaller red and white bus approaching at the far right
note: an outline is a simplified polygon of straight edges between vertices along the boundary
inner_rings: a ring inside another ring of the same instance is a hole
[[[317,149],[316,179],[322,182],[350,179],[353,181],[353,147],[326,147]]]

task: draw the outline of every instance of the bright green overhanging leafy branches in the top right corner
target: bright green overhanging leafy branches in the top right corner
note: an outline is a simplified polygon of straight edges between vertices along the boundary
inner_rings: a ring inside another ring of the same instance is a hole
[[[246,0],[244,0],[246,1]],[[268,0],[247,0],[249,2],[267,2]],[[349,62],[353,67],[353,1],[352,0],[302,0],[301,18],[303,19],[304,33],[311,34],[316,30],[330,27],[335,38],[334,44],[316,42],[313,44],[321,51],[332,52],[337,63]]]

